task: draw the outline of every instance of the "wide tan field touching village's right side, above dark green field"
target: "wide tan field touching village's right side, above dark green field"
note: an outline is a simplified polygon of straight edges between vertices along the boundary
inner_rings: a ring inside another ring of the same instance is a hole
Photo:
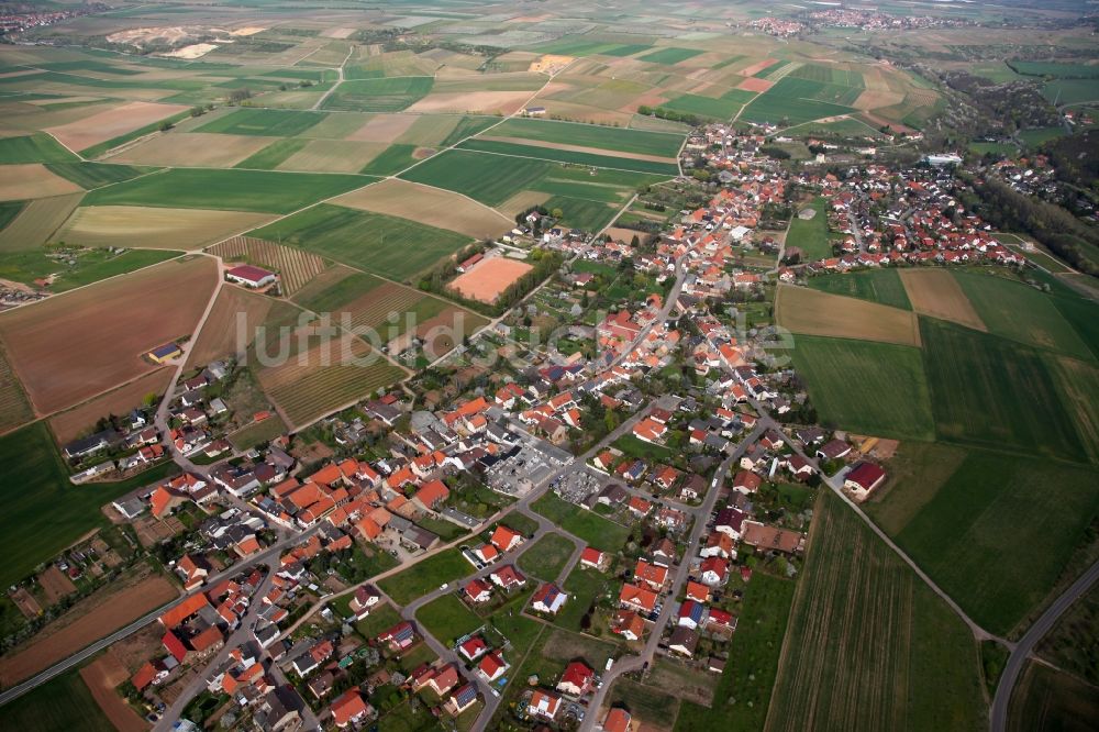
[[[779,285],[775,319],[793,333],[920,345],[914,313],[807,287]]]

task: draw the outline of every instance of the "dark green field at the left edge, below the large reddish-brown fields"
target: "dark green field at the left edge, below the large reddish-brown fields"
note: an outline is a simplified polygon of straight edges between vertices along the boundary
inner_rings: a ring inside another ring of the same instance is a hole
[[[74,486],[45,422],[0,437],[0,496],[5,507],[0,551],[7,557],[0,585],[22,579],[80,536],[107,525],[101,506],[163,478],[169,469],[175,466],[121,483]]]

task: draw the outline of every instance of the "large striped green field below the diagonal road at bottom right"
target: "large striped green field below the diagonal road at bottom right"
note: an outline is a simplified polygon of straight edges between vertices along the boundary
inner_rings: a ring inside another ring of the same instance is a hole
[[[839,498],[817,508],[766,729],[986,724],[969,629]]]

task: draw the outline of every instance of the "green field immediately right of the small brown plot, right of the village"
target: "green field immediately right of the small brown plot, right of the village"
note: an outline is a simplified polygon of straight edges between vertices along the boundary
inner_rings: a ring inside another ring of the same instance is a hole
[[[1090,348],[1050,296],[1003,277],[972,271],[953,275],[990,333],[1077,358],[1091,358]],[[1099,318],[1099,306],[1092,306],[1091,311],[1094,318]]]

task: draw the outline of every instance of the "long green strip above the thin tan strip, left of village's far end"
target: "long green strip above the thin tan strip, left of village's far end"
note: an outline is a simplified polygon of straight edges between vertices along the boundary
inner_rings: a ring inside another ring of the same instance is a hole
[[[540,142],[581,145],[619,153],[662,155],[676,157],[682,145],[684,135],[665,132],[643,132],[603,127],[596,124],[576,122],[553,122],[550,120],[506,120],[492,127],[492,136],[522,137]]]

